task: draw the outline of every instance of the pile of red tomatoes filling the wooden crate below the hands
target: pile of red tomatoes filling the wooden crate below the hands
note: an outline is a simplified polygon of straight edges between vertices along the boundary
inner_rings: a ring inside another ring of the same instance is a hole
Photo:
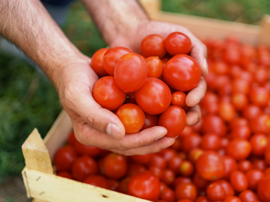
[[[207,92],[200,103],[202,119],[198,124],[185,126],[182,132],[172,133],[171,137],[179,135],[176,142],[158,153],[133,156],[82,145],[72,132],[67,144],[54,156],[56,174],[151,201],[269,202],[270,51],[262,45],[254,47],[241,43],[235,37],[204,42],[208,49],[209,74],[205,77]],[[106,51],[103,50],[103,55]],[[152,57],[145,53],[143,55],[146,59]],[[158,59],[163,63],[162,67],[168,65],[169,58],[176,57],[166,53],[156,56],[161,58]],[[102,57],[99,56],[97,61],[101,65]],[[106,71],[103,72],[105,75],[95,71],[102,78],[108,74]],[[158,76],[149,78],[159,78],[168,84],[170,99],[173,93],[178,92],[181,101],[175,106],[187,110],[183,99],[189,90],[175,89],[162,72],[156,72]],[[115,70],[113,73],[109,77],[115,80]],[[143,85],[149,78],[146,77]],[[142,86],[136,91],[140,91]],[[124,92],[123,100],[118,103],[119,106],[110,108],[116,114],[115,110],[124,106],[124,103],[138,104],[140,100],[129,90],[121,91]],[[145,98],[141,99],[147,103]],[[169,105],[172,107],[174,104]],[[143,109],[140,104],[138,106]],[[147,108],[151,108],[149,103]],[[156,108],[146,112],[143,110],[145,120],[148,120],[147,117],[156,117],[154,122],[145,121],[141,124],[143,129],[159,124],[162,115],[153,113]],[[151,124],[147,125],[148,122]]]

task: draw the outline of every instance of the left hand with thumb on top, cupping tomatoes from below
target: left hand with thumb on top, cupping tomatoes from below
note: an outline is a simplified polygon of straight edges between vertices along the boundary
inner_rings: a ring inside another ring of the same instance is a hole
[[[167,130],[161,126],[125,134],[118,117],[92,97],[98,76],[90,68],[90,61],[85,56],[75,62],[68,61],[56,84],[78,141],[124,155],[155,153],[175,142],[173,138],[163,137]]]

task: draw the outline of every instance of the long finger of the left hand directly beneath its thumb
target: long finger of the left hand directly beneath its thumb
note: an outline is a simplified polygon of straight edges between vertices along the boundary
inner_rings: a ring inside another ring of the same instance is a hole
[[[134,148],[148,146],[164,137],[167,133],[166,128],[155,126],[147,128],[137,133],[126,134],[121,140],[107,136],[107,134],[91,128],[87,124],[76,123],[72,120],[74,133],[78,141],[85,145],[97,146],[102,149],[115,149],[125,151]]]

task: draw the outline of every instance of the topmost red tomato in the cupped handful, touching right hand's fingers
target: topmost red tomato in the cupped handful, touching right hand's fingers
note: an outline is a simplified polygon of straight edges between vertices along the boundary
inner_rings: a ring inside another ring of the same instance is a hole
[[[191,47],[191,40],[181,32],[172,32],[165,39],[165,49],[170,55],[188,54]]]

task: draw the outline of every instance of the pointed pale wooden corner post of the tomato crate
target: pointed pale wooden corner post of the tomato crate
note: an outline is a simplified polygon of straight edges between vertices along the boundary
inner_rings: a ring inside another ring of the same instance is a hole
[[[49,151],[36,128],[25,140],[22,150],[27,168],[53,173]]]

